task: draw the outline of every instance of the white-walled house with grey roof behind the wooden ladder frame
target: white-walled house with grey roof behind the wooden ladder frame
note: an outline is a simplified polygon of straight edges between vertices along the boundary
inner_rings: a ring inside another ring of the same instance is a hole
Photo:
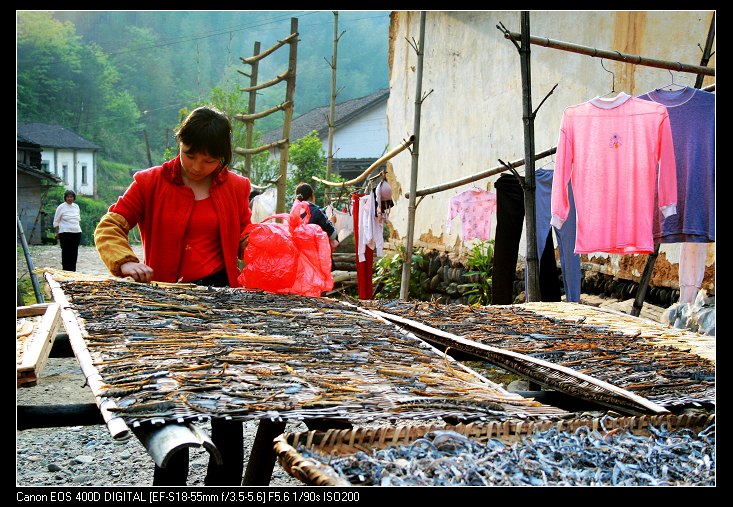
[[[333,171],[350,179],[361,174],[372,162],[387,151],[387,99],[389,90],[381,89],[335,106],[333,134]],[[290,140],[297,141],[318,132],[324,153],[328,154],[328,115],[331,106],[317,107],[297,118],[290,126]],[[282,138],[277,128],[263,135],[263,144]],[[273,158],[280,158],[278,147],[272,148]]]

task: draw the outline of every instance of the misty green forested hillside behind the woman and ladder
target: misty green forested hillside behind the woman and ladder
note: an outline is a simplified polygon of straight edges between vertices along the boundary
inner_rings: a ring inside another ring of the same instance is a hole
[[[246,112],[252,56],[298,20],[294,117],[329,103],[332,11],[17,11],[19,122],[67,127],[102,146],[107,167],[143,168],[175,148],[181,115],[213,103]],[[337,102],[388,87],[389,11],[339,11]],[[259,64],[258,82],[287,69],[288,46]],[[256,111],[281,103],[285,83],[263,89]],[[265,132],[282,113],[257,120]]]

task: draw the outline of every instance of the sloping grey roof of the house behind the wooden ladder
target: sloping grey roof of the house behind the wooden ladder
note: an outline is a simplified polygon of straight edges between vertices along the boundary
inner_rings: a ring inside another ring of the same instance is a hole
[[[341,104],[336,104],[334,116],[336,121],[334,122],[335,127],[339,127],[346,123],[349,123],[354,117],[367,111],[377,104],[386,102],[389,98],[389,89],[382,88],[367,95],[366,97],[359,97],[357,99],[347,100]],[[328,114],[331,106],[321,106],[315,109],[303,113],[297,118],[293,119],[290,125],[290,140],[297,141],[298,139],[305,137],[313,130],[318,131],[320,137],[324,137],[328,134]],[[269,144],[273,141],[277,141],[282,137],[282,127],[265,132],[262,136],[263,144]]]

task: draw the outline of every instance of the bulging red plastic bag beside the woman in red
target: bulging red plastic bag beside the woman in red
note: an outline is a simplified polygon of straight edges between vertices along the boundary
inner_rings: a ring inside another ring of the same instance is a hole
[[[267,223],[273,218],[286,222]],[[293,242],[288,218],[284,213],[272,215],[245,227],[249,239],[244,250],[245,266],[238,277],[243,287],[281,294],[290,291],[297,275],[300,253]]]

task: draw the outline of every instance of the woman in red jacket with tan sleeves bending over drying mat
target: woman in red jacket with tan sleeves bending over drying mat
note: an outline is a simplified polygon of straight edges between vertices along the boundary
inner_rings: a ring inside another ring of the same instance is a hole
[[[138,282],[184,282],[238,287],[237,259],[244,253],[244,228],[251,210],[248,178],[229,170],[232,127],[220,111],[199,107],[176,132],[179,154],[163,165],[139,171],[94,231],[99,256],[110,272]],[[139,226],[143,262],[128,234]],[[244,437],[241,421],[211,419],[211,439],[223,463],[209,458],[207,486],[242,484]],[[185,486],[188,448],[155,466],[153,485]]]

